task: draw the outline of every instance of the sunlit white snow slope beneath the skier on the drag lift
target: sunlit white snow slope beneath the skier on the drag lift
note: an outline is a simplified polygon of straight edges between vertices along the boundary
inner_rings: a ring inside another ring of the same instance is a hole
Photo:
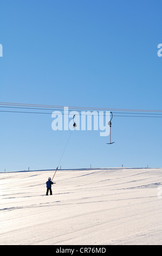
[[[0,245],[160,245],[162,169],[0,173]]]

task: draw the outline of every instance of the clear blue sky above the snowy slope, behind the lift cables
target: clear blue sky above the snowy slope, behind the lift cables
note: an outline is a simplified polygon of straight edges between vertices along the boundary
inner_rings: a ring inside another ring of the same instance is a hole
[[[161,1],[1,0],[0,101],[162,109]],[[56,168],[70,131],[0,113],[0,171]],[[161,167],[161,118],[114,117],[113,145],[75,131],[62,168]]]

